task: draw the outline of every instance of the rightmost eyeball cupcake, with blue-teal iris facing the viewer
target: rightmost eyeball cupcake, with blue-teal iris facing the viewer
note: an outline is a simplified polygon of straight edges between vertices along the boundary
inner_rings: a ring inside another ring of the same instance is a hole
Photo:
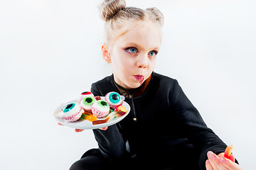
[[[124,96],[120,96],[117,92],[112,91],[106,94],[105,101],[107,101],[107,103],[110,105],[110,108],[114,110],[118,106],[122,105]]]

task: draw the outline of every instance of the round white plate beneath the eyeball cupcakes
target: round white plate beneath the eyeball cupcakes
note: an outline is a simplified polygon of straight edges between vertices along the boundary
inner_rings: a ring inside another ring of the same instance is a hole
[[[102,100],[105,99],[105,97],[101,97],[101,98],[102,98]],[[69,101],[67,103],[63,103],[62,105],[58,106],[58,108],[56,108],[53,115],[56,118],[56,120],[58,121],[58,123],[61,123],[62,125],[68,126],[70,128],[81,129],[81,130],[105,128],[107,126],[119,123],[119,121],[121,121],[123,118],[125,118],[129,114],[129,111],[131,110],[129,104],[124,101],[122,106],[124,106],[124,108],[127,109],[127,113],[125,113],[124,115],[122,115],[119,118],[113,118],[112,120],[110,120],[107,123],[102,123],[102,124],[98,124],[98,125],[92,125],[92,122],[90,122],[89,120],[77,120],[75,122],[70,123],[70,122],[63,120],[62,118],[59,118],[58,114],[60,113],[60,111],[62,111],[62,109],[65,108],[65,106],[68,105],[68,103],[73,103],[75,101],[80,101],[80,98],[75,99],[73,101]],[[102,118],[98,118],[97,120],[102,120]]]

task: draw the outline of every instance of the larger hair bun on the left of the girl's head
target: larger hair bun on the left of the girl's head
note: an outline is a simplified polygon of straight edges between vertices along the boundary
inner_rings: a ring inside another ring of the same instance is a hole
[[[100,6],[100,16],[104,21],[110,21],[110,19],[115,16],[118,11],[124,9],[126,3],[124,0],[105,0]]]

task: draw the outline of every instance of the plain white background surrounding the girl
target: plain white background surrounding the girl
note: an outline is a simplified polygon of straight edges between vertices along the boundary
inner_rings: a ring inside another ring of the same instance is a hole
[[[97,147],[91,130],[57,125],[53,111],[111,74],[100,53],[100,2],[0,0],[0,169],[69,169]],[[178,79],[206,124],[234,145],[244,169],[253,169],[255,1],[127,0],[127,6],[164,13],[155,71]]]

